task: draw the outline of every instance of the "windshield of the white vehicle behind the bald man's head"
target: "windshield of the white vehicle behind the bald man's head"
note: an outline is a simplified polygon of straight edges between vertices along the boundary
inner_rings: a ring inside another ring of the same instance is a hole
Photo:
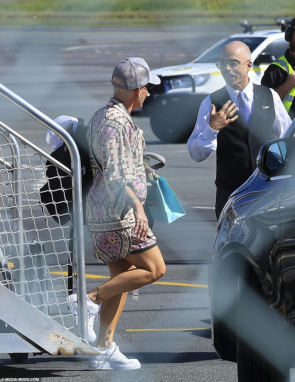
[[[217,62],[220,58],[220,53],[224,45],[228,44],[231,41],[239,40],[248,45],[251,52],[255,50],[258,45],[263,42],[264,37],[229,37],[228,39],[219,42],[215,47],[209,49],[207,52],[203,53],[200,57],[196,58],[194,62],[200,62],[200,63],[210,63],[210,62]]]

